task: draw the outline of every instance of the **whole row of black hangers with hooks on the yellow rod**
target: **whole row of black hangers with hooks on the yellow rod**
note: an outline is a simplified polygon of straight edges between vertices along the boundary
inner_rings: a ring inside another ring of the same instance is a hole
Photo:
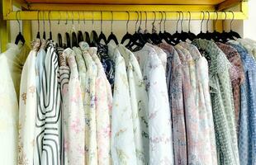
[[[16,18],[17,18],[17,14],[19,11],[17,11],[16,13]],[[240,35],[238,33],[236,33],[235,31],[232,31],[232,23],[234,21],[234,12],[232,12],[232,20],[230,21],[230,31],[226,32],[223,28],[222,32],[218,32],[216,31],[216,21],[218,21],[218,12],[216,12],[216,20],[214,21],[214,27],[215,30],[213,32],[209,31],[209,26],[208,23],[210,21],[210,12],[201,12],[203,14],[202,20],[201,20],[201,31],[198,35],[195,35],[194,33],[192,33],[190,31],[190,23],[191,23],[191,12],[189,13],[189,20],[188,20],[188,31],[183,31],[183,12],[177,12],[178,13],[178,20],[176,23],[176,32],[172,35],[170,33],[168,33],[168,31],[166,31],[166,26],[165,26],[165,22],[166,22],[166,12],[159,12],[161,14],[161,20],[159,21],[159,33],[157,33],[157,31],[155,30],[155,21],[156,21],[156,14],[154,12],[154,21],[152,22],[152,33],[149,33],[149,31],[147,31],[147,12],[145,12],[145,31],[142,31],[141,29],[141,21],[142,21],[142,12],[136,12],[137,13],[137,20],[135,22],[135,33],[134,34],[130,34],[128,31],[128,24],[130,21],[130,12],[127,12],[128,15],[128,19],[126,21],[126,34],[122,37],[121,39],[121,44],[124,44],[126,42],[128,42],[128,44],[126,44],[126,47],[130,50],[132,50],[132,48],[135,47],[140,47],[142,48],[145,43],[149,42],[151,44],[154,45],[158,45],[161,42],[165,41],[170,45],[177,45],[180,41],[187,41],[187,40],[194,40],[197,38],[200,39],[206,39],[206,40],[215,40],[215,41],[219,41],[219,42],[226,42],[227,40],[235,40],[237,38],[241,38]],[[164,14],[163,14],[164,13]],[[206,17],[206,13],[208,14],[208,19],[206,21],[206,32],[202,31],[202,23],[205,20]],[[226,12],[225,13],[225,20],[226,20]],[[40,39],[40,21],[39,21],[39,12],[38,12],[38,32],[36,35],[36,38]],[[49,18],[49,27],[50,27],[50,38],[48,40],[52,40],[52,32],[51,32],[51,23],[50,23],[50,11],[48,14]],[[137,24],[140,20],[140,25],[139,28],[137,30]],[[224,21],[225,21],[224,20]],[[84,20],[83,20],[84,21]],[[164,31],[162,32],[162,22],[164,21]],[[178,31],[178,23],[180,21],[181,24],[181,31]],[[17,22],[19,25],[19,33],[17,35],[15,44],[17,44],[19,42],[19,40],[21,40],[23,43],[25,42],[25,39],[23,37],[23,35],[21,34],[21,25],[20,25],[20,21],[17,18]],[[73,20],[72,20],[73,22]],[[46,39],[46,33],[45,33],[45,19],[43,19],[43,23],[44,23],[44,31],[43,31],[43,39]],[[84,21],[85,23],[85,21]],[[65,25],[68,24],[68,20],[66,21]],[[79,22],[78,22],[79,24]],[[93,24],[93,20],[92,20],[92,24]],[[59,47],[73,47],[73,46],[78,46],[78,43],[80,41],[86,41],[88,42],[88,44],[90,46],[97,46],[100,43],[103,45],[107,45],[109,42],[111,42],[111,40],[113,40],[116,45],[119,44],[116,35],[114,34],[113,30],[113,12],[111,12],[111,34],[107,37],[103,32],[102,32],[102,12],[101,12],[101,32],[99,35],[97,35],[96,31],[92,31],[91,34],[88,33],[88,31],[84,31],[84,33],[82,31],[74,31],[74,27],[73,27],[73,31],[71,33],[71,40],[70,40],[70,36],[69,36],[69,32],[65,32],[64,35],[64,39],[65,39],[65,44],[62,42],[62,35],[60,33],[58,33],[58,45]],[[58,21],[58,25],[59,25],[59,21]]]

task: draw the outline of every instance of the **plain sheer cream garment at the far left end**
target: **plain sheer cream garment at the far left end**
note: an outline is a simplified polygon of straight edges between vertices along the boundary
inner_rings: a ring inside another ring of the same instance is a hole
[[[18,119],[17,93],[12,79],[12,69],[8,56],[17,56],[20,47],[7,45],[7,51],[0,54],[0,159],[2,164],[16,165],[18,158]]]

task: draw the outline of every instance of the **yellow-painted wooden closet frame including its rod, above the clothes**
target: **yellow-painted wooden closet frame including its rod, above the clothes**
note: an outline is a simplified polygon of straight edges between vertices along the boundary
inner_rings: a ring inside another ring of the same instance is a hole
[[[118,3],[120,1],[120,3]],[[217,31],[222,30],[223,20],[244,20],[248,18],[248,0],[222,0],[218,4],[197,4],[197,0],[180,0],[175,1],[175,4],[170,4],[173,0],[164,1],[168,4],[124,4],[123,0],[117,0],[115,4],[65,4],[61,1],[58,3],[51,3],[49,1],[37,0],[40,3],[29,3],[26,0],[2,0],[0,2],[0,42],[2,51],[6,50],[6,45],[10,41],[10,24],[9,21],[22,20],[22,31],[25,40],[31,40],[31,21],[35,20],[102,20],[109,21],[111,19],[111,12],[113,12],[113,20],[127,20],[127,12],[130,13],[130,20],[137,20],[135,12],[143,12],[142,19],[145,19],[145,12],[148,20],[161,19],[160,12],[166,13],[167,20],[177,20],[178,12],[183,12],[184,20],[188,19],[191,12],[191,20],[202,19],[202,12],[210,12],[210,19],[216,20],[218,14]],[[207,2],[214,2],[214,0],[207,0]],[[69,1],[70,2],[70,1]],[[83,0],[81,0],[83,2]],[[91,1],[93,2],[93,1]],[[178,3],[177,3],[178,2]],[[189,4],[191,2],[191,4]],[[21,8],[17,12],[12,10],[12,6]],[[226,11],[226,12],[223,12]],[[230,12],[232,11],[232,12]],[[233,15],[234,14],[234,15]],[[206,14],[205,19],[208,19]],[[221,21],[222,20],[222,21]]]

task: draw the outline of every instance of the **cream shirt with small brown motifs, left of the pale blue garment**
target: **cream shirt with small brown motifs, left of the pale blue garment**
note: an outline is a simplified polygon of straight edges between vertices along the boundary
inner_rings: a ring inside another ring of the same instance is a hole
[[[32,43],[33,49],[26,59],[21,73],[21,90],[19,105],[19,137],[18,164],[34,164],[34,149],[36,146],[36,53],[40,40]]]

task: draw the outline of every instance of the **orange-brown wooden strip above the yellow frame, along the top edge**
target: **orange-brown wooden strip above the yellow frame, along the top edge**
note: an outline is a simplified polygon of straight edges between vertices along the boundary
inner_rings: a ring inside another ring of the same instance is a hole
[[[78,3],[78,4],[208,4],[216,5],[225,0],[26,0],[31,3]]]

